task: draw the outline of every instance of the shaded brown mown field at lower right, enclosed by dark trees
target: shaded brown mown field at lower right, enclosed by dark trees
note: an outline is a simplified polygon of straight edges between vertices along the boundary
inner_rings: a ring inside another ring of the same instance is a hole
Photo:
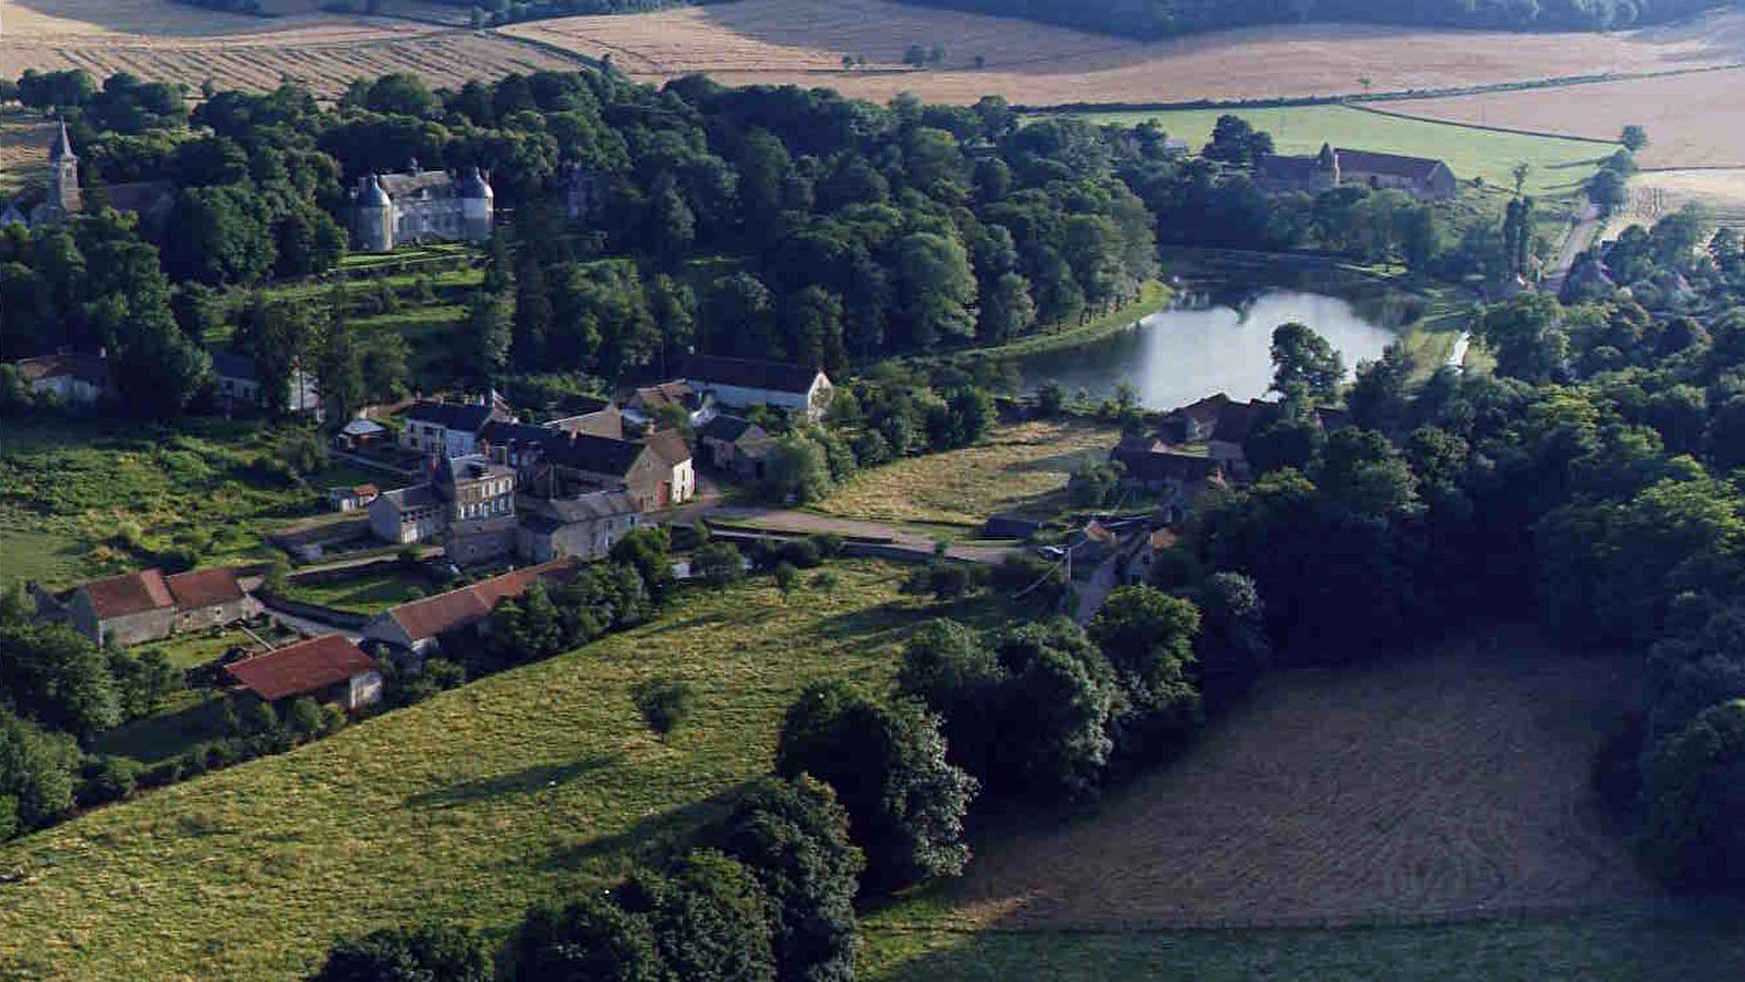
[[[1647,900],[1590,767],[1630,664],[1527,638],[1284,671],[1094,818],[993,837],[982,923],[1136,928]]]

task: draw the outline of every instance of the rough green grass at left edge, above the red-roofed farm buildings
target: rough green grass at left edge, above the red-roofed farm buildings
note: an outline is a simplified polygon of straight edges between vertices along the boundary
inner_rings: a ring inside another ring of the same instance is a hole
[[[103,421],[19,419],[0,451],[0,580],[63,585],[138,566],[154,550],[206,561],[265,556],[263,531],[323,510],[319,491],[379,475],[337,465],[298,488],[260,470],[276,437],[260,423],[190,419],[117,430]]]

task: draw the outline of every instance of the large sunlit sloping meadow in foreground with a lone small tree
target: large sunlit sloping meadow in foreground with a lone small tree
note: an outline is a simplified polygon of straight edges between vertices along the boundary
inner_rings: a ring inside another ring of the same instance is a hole
[[[0,870],[23,877],[0,888],[0,966],[284,982],[337,933],[503,930],[599,884],[766,771],[804,681],[885,685],[906,631],[935,613],[899,596],[902,566],[834,570],[836,589],[787,601],[768,578],[684,594],[642,629],[0,846]],[[654,674],[696,690],[665,743],[628,697]]]

